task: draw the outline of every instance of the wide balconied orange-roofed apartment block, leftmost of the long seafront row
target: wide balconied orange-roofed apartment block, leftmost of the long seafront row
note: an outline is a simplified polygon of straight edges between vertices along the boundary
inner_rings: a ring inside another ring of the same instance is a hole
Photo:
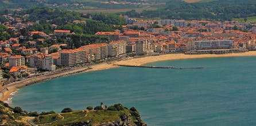
[[[73,66],[87,62],[86,50],[83,48],[78,49],[64,49],[60,52],[61,65]]]

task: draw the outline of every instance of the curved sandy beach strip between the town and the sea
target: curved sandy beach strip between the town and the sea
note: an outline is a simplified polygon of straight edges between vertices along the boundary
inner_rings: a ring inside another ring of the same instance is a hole
[[[16,92],[18,88],[22,88],[23,86],[28,86],[32,84],[36,84],[38,82],[51,80],[52,78],[63,77],[71,74],[77,73],[86,73],[97,70],[104,70],[110,68],[118,68],[117,65],[145,65],[152,62],[160,62],[160,61],[170,61],[170,60],[185,60],[185,59],[194,59],[194,58],[219,58],[219,57],[245,57],[245,56],[256,56],[256,51],[253,52],[245,52],[245,53],[229,53],[229,54],[197,54],[197,55],[187,55],[183,53],[177,54],[164,54],[160,56],[146,56],[139,58],[131,58],[131,59],[123,59],[121,61],[112,61],[111,64],[107,64],[106,62],[95,64],[91,66],[87,66],[84,68],[78,68],[69,70],[66,72],[60,73],[52,73],[45,76],[28,78],[24,81],[18,81],[7,85],[6,87],[2,87],[0,100],[6,101],[10,100],[13,95],[11,93]]]

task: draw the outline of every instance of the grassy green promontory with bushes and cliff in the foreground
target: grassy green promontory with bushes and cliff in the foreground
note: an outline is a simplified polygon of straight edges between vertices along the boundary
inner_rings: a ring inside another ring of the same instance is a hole
[[[98,106],[94,109],[72,111],[65,108],[61,113],[26,112],[20,107],[9,107],[0,101],[0,125],[146,125],[134,108],[123,107],[122,104],[110,107]]]

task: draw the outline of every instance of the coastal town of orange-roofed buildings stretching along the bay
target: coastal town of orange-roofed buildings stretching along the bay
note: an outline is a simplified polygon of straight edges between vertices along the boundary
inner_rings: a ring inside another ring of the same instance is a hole
[[[1,27],[15,36],[1,37],[2,85],[44,72],[68,70],[133,56],[169,53],[226,54],[256,50],[255,22],[149,20],[120,15],[127,23],[122,25],[122,31],[97,31],[94,34],[106,37],[107,42],[71,49],[68,43],[56,42],[57,37],[69,40],[68,35],[77,34],[71,29],[55,29],[57,25],[52,24],[55,30],[50,34],[28,31],[26,36],[21,36],[22,29],[40,22],[23,23],[29,14],[22,15],[22,18],[15,18],[17,16],[13,14],[2,17],[6,18],[6,22],[2,22]],[[72,23],[86,26],[87,22],[75,20]],[[49,40],[53,41],[50,42],[52,44],[42,46]]]

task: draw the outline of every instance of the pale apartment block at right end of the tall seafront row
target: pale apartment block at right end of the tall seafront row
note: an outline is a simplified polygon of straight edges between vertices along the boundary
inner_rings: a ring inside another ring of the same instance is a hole
[[[152,45],[149,40],[136,41],[135,47],[135,52],[137,54],[149,54],[153,52]]]

